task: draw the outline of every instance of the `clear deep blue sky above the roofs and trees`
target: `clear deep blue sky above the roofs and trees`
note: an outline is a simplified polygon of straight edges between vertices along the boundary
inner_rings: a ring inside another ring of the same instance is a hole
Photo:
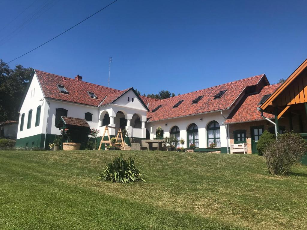
[[[2,0],[0,59],[9,62],[110,2]],[[262,73],[276,83],[307,58],[306,7],[304,1],[119,0],[10,66],[79,74],[107,86],[112,56],[110,87],[142,94],[184,94]]]

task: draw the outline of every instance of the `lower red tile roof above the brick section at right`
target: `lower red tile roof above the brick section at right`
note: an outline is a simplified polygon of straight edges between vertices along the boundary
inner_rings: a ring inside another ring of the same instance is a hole
[[[272,94],[281,84],[264,86],[259,94],[246,95],[236,106],[236,108],[227,117],[225,124],[241,123],[248,121],[264,120],[259,111],[257,111],[258,103],[264,95]],[[267,118],[274,118],[274,115],[263,113]]]

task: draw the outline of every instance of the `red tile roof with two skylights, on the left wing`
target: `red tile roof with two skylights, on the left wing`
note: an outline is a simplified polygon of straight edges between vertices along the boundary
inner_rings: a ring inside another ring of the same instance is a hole
[[[35,70],[35,73],[39,79],[44,95],[47,98],[98,106],[107,95],[119,92],[119,90],[105,86],[78,81],[40,70]],[[60,93],[56,86],[57,84],[65,86],[69,94]],[[98,99],[91,98],[87,91],[95,93]]]

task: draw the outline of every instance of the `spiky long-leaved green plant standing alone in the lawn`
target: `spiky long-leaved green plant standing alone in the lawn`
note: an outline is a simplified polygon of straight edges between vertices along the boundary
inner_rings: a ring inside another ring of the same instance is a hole
[[[145,181],[144,174],[141,174],[140,168],[135,166],[135,156],[124,158],[122,154],[107,163],[98,179],[109,180],[113,183]]]

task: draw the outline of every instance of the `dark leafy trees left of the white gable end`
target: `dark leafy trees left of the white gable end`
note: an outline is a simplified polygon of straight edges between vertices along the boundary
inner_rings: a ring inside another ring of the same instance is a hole
[[[22,65],[13,70],[0,59],[0,121],[19,120],[18,108],[32,71]]]

